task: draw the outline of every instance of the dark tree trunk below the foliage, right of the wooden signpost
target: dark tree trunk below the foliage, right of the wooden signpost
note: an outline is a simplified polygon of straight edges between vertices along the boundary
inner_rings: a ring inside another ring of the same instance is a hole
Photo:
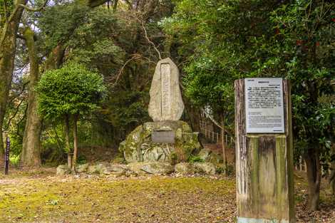
[[[320,183],[321,183],[321,165],[319,160],[319,152],[317,150],[309,150],[305,157],[307,165],[307,179],[309,185],[309,209],[316,211],[319,209],[320,199]]]

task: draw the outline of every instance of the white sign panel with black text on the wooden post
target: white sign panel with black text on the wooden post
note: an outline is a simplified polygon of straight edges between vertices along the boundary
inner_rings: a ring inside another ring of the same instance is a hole
[[[245,78],[247,133],[284,133],[282,78]]]

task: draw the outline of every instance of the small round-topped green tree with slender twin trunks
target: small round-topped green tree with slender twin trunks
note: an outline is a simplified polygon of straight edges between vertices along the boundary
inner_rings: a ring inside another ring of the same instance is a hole
[[[38,112],[52,121],[63,120],[66,133],[68,167],[75,170],[78,154],[77,122],[97,110],[106,88],[103,77],[79,63],[47,71],[36,86]],[[70,147],[70,122],[73,121],[73,157]]]

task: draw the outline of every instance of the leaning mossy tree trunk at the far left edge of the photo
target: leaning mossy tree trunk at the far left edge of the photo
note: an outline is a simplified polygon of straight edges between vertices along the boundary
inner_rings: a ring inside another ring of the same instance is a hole
[[[27,0],[18,0],[14,9],[19,4],[26,4]],[[16,53],[16,33],[23,8],[19,7],[11,13],[11,20],[3,27],[0,36],[0,130],[2,133],[2,125],[4,124],[4,115],[6,113],[6,104],[11,87],[11,78],[14,71],[14,59]],[[7,27],[7,28],[5,28]],[[0,142],[4,142],[2,134],[0,134]],[[4,144],[0,143],[0,155],[4,155]],[[3,159],[0,159],[0,163]]]

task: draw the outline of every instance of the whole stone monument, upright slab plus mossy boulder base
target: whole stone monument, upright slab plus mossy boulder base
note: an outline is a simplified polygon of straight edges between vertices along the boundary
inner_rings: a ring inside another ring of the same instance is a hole
[[[199,152],[198,133],[180,120],[184,110],[179,71],[170,58],[158,61],[150,88],[148,112],[153,122],[144,123],[120,143],[127,162],[181,162]]]

